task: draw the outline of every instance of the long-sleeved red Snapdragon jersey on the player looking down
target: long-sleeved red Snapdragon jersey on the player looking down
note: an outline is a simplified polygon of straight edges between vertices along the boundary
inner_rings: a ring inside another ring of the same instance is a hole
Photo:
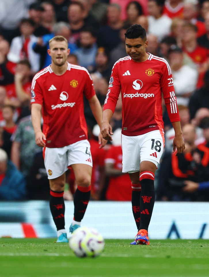
[[[180,121],[168,62],[149,54],[145,62],[134,62],[127,56],[118,60],[112,70],[105,109],[114,113],[119,93],[122,97],[122,134],[136,136],[164,129],[162,93],[171,122]]]

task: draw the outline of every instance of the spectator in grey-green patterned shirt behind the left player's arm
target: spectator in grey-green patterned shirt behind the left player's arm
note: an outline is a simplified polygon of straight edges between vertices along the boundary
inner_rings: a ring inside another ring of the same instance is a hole
[[[11,160],[28,181],[34,155],[40,152],[35,142],[31,116],[26,116],[19,121],[11,140]]]

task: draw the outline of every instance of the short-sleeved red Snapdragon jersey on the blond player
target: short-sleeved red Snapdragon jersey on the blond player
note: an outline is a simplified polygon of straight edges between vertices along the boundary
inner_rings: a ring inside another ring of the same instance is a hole
[[[32,81],[31,104],[42,105],[43,133],[50,148],[87,139],[83,94],[87,99],[95,95],[92,78],[84,67],[67,64],[63,75],[47,66]]]

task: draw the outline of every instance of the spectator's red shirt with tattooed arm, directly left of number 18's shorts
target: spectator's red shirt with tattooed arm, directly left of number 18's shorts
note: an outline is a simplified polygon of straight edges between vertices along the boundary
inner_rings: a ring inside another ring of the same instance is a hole
[[[122,174],[122,147],[112,145],[105,156],[104,162],[113,163],[113,167],[115,169],[121,170],[121,175],[110,176],[106,199],[115,201],[131,201],[132,189],[130,177],[128,173]]]

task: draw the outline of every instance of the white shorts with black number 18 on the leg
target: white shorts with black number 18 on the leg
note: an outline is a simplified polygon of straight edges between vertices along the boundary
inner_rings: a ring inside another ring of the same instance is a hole
[[[123,150],[122,172],[139,171],[142,161],[151,161],[158,166],[165,143],[162,129],[133,137],[122,135],[121,141]]]

